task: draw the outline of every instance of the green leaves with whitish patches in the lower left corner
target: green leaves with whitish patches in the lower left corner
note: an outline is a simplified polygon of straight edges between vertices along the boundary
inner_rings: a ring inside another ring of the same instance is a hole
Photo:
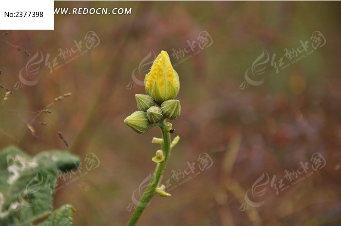
[[[72,170],[78,157],[62,151],[41,152],[35,157],[15,146],[0,152],[0,225],[31,226],[48,217],[41,226],[70,225],[72,207],[52,212],[52,195],[61,171]]]

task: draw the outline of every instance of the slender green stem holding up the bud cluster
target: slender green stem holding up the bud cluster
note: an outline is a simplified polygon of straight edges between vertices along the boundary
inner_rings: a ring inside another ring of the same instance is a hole
[[[162,144],[162,152],[163,155],[165,156],[165,160],[157,163],[155,171],[152,175],[152,179],[149,182],[148,188],[142,195],[142,198],[139,202],[139,204],[136,206],[133,215],[128,222],[128,226],[134,226],[136,225],[136,222],[140,218],[143,210],[148,206],[150,203],[152,197],[156,193],[155,189],[159,185],[160,178],[165,171],[165,167],[168,161],[168,157],[170,156],[170,131],[169,128],[166,126],[166,119],[162,120],[159,122],[158,126],[161,129],[162,132],[162,137],[163,137],[163,144]]]

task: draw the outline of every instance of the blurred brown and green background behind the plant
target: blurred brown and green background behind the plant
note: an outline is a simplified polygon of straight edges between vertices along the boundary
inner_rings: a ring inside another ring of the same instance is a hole
[[[60,177],[55,207],[72,204],[76,226],[126,224],[160,131],[123,120],[165,50],[180,77],[181,139],[162,179],[172,196],[155,195],[138,224],[340,225],[340,6],[56,1],[132,13],[1,31],[1,148],[76,153],[81,169]]]

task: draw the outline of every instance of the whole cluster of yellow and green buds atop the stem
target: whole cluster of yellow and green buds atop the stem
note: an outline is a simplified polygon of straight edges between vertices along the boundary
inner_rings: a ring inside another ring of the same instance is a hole
[[[139,110],[124,120],[137,133],[147,132],[163,119],[176,119],[181,112],[180,101],[174,100],[180,89],[179,76],[167,52],[156,57],[144,84],[147,94],[135,95]]]

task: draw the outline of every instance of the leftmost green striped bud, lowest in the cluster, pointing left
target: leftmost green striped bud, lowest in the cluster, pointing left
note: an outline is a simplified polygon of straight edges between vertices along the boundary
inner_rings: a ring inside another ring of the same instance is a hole
[[[124,120],[124,123],[137,133],[144,133],[152,128],[152,124],[148,121],[147,114],[144,111],[135,111]]]

